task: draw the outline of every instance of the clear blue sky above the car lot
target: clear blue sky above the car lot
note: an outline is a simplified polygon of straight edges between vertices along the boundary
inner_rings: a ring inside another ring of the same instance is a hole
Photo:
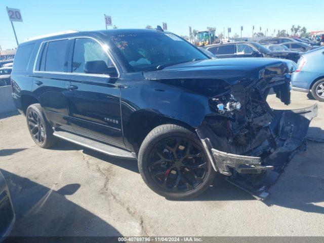
[[[76,0],[0,0],[0,46],[15,48],[16,42],[8,19],[6,6],[21,10],[23,22],[14,22],[18,41],[25,38],[67,29],[104,29],[104,14],[112,16],[118,28],[155,27],[168,23],[168,30],[188,35],[188,26],[205,30],[207,26],[232,28],[232,33],[252,35],[256,30],[290,30],[291,26],[305,26],[307,31],[324,29],[323,0],[119,0],[119,1],[76,1]],[[225,30],[226,31],[226,30]],[[227,32],[226,32],[227,34]]]

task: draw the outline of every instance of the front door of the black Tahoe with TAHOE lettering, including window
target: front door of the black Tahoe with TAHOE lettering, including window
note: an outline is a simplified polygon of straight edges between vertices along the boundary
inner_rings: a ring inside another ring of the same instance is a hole
[[[92,38],[75,38],[71,44],[71,73],[66,85],[69,121],[73,132],[117,147],[125,147],[121,131],[120,89],[117,77],[85,73],[86,62],[113,66],[102,46]]]

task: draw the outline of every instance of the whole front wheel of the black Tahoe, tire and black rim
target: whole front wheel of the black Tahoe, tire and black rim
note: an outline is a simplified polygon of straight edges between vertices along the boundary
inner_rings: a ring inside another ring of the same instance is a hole
[[[216,174],[197,135],[174,124],[158,126],[146,136],[138,168],[150,189],[170,199],[203,193]]]

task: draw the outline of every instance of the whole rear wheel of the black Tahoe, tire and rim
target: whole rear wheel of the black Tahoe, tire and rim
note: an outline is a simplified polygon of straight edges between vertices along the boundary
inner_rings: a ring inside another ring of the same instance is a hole
[[[53,146],[57,138],[53,136],[53,129],[45,118],[40,104],[31,104],[26,111],[28,131],[34,142],[41,148]]]

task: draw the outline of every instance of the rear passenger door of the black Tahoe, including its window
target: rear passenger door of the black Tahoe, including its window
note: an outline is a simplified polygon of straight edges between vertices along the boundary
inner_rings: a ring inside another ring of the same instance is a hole
[[[69,126],[64,96],[65,82],[68,80],[68,43],[67,38],[43,42],[33,70],[33,92],[54,127]]]

